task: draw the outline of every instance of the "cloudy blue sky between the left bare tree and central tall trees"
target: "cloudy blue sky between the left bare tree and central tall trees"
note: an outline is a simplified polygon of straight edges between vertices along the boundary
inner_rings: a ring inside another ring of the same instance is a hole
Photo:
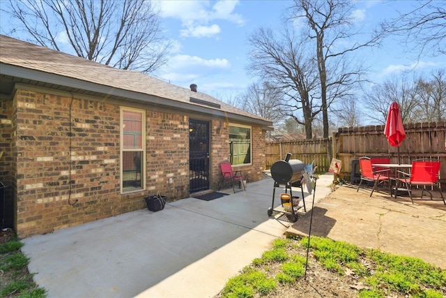
[[[248,36],[277,24],[288,1],[160,1],[167,36],[174,40],[169,65],[158,74],[173,84],[221,95],[245,89]]]

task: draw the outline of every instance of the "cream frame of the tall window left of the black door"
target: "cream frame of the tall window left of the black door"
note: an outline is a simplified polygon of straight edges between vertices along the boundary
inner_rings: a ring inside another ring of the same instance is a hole
[[[140,113],[141,114],[141,149],[128,149],[124,148],[124,112],[134,112],[134,113]],[[137,191],[145,191],[146,190],[146,111],[145,110],[139,110],[139,109],[133,109],[131,107],[121,107],[120,113],[119,113],[119,127],[121,128],[119,130],[120,135],[120,152],[119,152],[119,164],[120,164],[120,186],[121,186],[121,194],[124,193],[134,193]],[[142,152],[142,167],[141,167],[141,176],[142,176],[142,185],[141,188],[135,188],[130,191],[124,191],[123,189],[123,152],[131,151],[131,152]]]

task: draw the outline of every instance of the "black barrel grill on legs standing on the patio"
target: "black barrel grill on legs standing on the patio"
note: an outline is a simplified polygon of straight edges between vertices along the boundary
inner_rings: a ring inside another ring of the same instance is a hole
[[[302,174],[305,170],[305,163],[298,159],[290,159],[291,154],[286,154],[284,161],[275,162],[270,169],[271,177],[274,179],[274,188],[272,188],[272,203],[271,207],[268,208],[268,216],[272,216],[272,211],[282,212],[284,214],[291,214],[293,221],[298,220],[298,215],[296,212],[300,207],[293,206],[293,193],[291,187],[300,187],[302,193],[302,202],[305,212],[307,212],[307,207],[305,207],[304,200],[304,190],[302,188]],[[285,193],[290,192],[291,195],[291,212],[285,211],[282,204],[279,207],[274,207],[275,191],[277,187],[285,187]]]

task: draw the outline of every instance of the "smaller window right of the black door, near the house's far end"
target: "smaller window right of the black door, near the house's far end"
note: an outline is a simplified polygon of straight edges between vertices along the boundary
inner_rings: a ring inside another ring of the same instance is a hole
[[[232,165],[251,163],[251,127],[229,125],[229,161]]]

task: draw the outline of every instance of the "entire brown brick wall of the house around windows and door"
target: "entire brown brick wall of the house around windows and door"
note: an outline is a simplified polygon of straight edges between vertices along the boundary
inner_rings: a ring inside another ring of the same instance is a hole
[[[26,90],[1,105],[6,107],[1,150],[10,148],[2,158],[1,178],[10,179],[19,237],[145,209],[144,197],[158,190],[169,200],[190,197],[190,115],[145,107],[146,191],[121,194],[120,105]],[[220,162],[229,155],[229,124],[210,116],[208,121],[210,188],[215,189]],[[252,154],[252,165],[238,167],[248,181],[262,178],[265,132],[260,126],[252,126]]]

